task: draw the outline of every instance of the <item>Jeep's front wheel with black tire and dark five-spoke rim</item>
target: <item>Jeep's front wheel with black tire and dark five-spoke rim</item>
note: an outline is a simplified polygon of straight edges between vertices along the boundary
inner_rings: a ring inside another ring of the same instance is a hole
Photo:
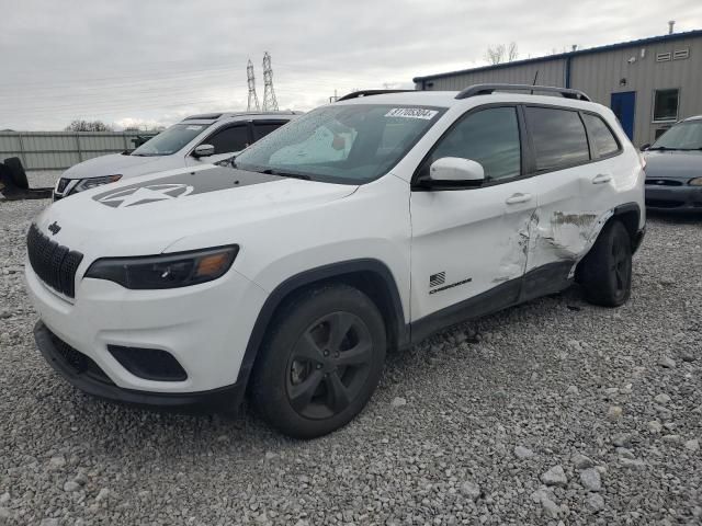
[[[251,403],[288,436],[331,433],[371,399],[386,345],[383,317],[365,294],[347,285],[306,290],[272,322],[253,368]]]

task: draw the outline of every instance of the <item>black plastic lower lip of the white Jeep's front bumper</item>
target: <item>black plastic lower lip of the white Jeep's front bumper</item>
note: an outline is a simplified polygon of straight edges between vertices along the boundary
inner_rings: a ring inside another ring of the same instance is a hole
[[[39,320],[34,340],[46,362],[78,389],[104,400],[129,405],[186,411],[236,410],[246,386],[231,386],[199,392],[150,392],[117,387],[90,357],[63,342]]]

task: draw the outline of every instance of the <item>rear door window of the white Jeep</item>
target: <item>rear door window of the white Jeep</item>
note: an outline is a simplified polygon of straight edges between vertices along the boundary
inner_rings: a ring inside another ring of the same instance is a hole
[[[590,159],[578,112],[526,106],[526,125],[536,155],[536,170],[557,170]]]

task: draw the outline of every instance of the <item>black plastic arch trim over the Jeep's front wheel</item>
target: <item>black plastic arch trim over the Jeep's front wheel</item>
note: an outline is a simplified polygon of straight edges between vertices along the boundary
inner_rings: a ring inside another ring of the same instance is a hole
[[[409,344],[409,330],[405,322],[399,289],[387,265],[374,259],[331,263],[288,277],[268,296],[249,335],[237,384],[248,382],[267,330],[283,304],[302,290],[333,282],[360,289],[377,305],[387,328],[388,348]]]

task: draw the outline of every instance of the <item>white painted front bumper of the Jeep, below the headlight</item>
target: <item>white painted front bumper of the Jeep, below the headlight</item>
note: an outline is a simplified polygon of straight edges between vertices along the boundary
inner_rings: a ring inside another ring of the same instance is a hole
[[[140,391],[151,399],[157,393],[170,399],[239,382],[249,335],[265,300],[263,289],[234,268],[214,282],[163,290],[128,290],[103,279],[78,278],[72,301],[49,289],[30,264],[25,278],[42,324],[95,364],[114,385],[107,391]],[[152,363],[135,367],[115,348],[127,350],[137,359],[154,353],[170,355],[184,375],[166,378],[166,369],[149,370]]]

